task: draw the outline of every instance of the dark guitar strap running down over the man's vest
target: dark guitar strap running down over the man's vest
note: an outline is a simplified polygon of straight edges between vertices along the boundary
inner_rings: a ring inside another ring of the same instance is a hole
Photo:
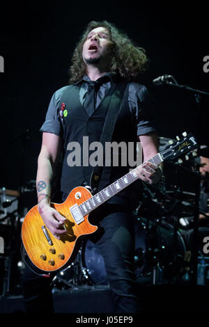
[[[114,127],[116,125],[116,120],[119,113],[121,112],[123,98],[127,97],[128,83],[123,81],[117,84],[114,94],[111,96],[111,101],[107,109],[107,115],[104,121],[104,126],[102,129],[102,134],[100,137],[100,143],[102,144],[103,150],[105,149],[105,142],[111,142],[111,138],[114,132]],[[105,162],[105,152],[103,151],[103,164]],[[111,166],[95,166],[93,173],[91,174],[90,186],[95,193],[104,189],[107,184],[108,177],[111,174]]]

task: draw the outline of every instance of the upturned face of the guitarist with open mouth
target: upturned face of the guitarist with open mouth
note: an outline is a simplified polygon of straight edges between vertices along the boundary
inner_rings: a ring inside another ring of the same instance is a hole
[[[109,32],[104,27],[97,27],[88,33],[83,46],[83,59],[87,65],[106,61],[114,45],[110,40]]]

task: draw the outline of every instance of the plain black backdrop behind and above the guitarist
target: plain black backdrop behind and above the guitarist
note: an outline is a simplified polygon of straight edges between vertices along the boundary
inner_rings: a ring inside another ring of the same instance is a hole
[[[193,94],[152,83],[171,74],[180,84],[209,92],[209,73],[203,72],[203,57],[209,55],[203,1],[187,6],[160,1],[8,3],[0,22],[0,56],[5,61],[0,73],[0,187],[17,189],[36,179],[39,128],[49,100],[68,83],[72,51],[86,24],[103,19],[146,49],[150,68],[140,82],[157,104],[160,136],[175,138],[187,130],[208,144],[209,97],[201,97],[198,106]]]

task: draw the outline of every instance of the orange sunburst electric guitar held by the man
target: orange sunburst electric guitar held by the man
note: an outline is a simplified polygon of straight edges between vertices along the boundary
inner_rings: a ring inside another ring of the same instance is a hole
[[[158,166],[162,161],[179,159],[196,149],[194,136],[192,134],[183,136],[181,140],[174,141],[149,161]],[[22,223],[22,241],[31,262],[45,272],[58,271],[69,265],[75,258],[79,240],[98,230],[97,225],[89,222],[88,215],[138,180],[137,173],[141,166],[134,168],[94,196],[85,187],[78,186],[69,193],[62,204],[52,203],[51,206],[66,218],[64,224],[66,232],[61,234],[61,239],[56,239],[47,229],[38,212],[38,205],[30,209]]]

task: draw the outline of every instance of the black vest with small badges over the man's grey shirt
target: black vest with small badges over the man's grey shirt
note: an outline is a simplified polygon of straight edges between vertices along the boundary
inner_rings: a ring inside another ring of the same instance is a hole
[[[60,101],[60,110],[62,104],[64,104],[64,115],[62,115],[62,125],[63,125],[63,167],[61,173],[61,191],[64,193],[69,193],[76,186],[89,185],[91,179],[91,173],[93,167],[88,164],[88,158],[83,158],[83,151],[85,150],[88,157],[95,152],[95,150],[84,149],[85,142],[83,143],[84,136],[88,136],[88,145],[94,141],[100,141],[100,136],[102,133],[102,127],[104,125],[104,120],[106,118],[107,109],[112,95],[116,91],[118,84],[113,83],[111,88],[107,91],[104,99],[100,103],[94,113],[89,117],[86,113],[84,107],[79,101],[79,86],[68,86],[63,92]],[[123,141],[127,142],[136,142],[137,141],[137,124],[132,126],[130,123],[130,110],[128,106],[128,86],[125,88],[125,93],[123,98],[121,98],[121,111],[116,120],[116,125],[114,128],[114,134],[112,141],[117,143]],[[66,115],[67,113],[67,115]],[[76,142],[76,145],[79,143],[79,147],[76,146],[78,152],[75,152],[75,147],[72,142]],[[71,150],[69,150],[69,143]],[[73,152],[73,153],[72,153]],[[81,166],[69,166],[72,165],[72,156],[76,156],[73,159],[81,159]],[[77,153],[77,154],[76,154]],[[81,156],[79,157],[79,155]],[[85,163],[84,163],[85,162]],[[83,166],[83,163],[87,166]],[[120,160],[119,160],[120,163]],[[128,166],[119,166],[112,168],[103,168],[109,169],[109,175],[107,174],[107,179],[105,184],[100,185],[99,189],[103,189],[105,186],[111,184],[115,180],[118,180],[121,176],[125,175],[129,171]],[[121,191],[122,193],[123,191]]]

